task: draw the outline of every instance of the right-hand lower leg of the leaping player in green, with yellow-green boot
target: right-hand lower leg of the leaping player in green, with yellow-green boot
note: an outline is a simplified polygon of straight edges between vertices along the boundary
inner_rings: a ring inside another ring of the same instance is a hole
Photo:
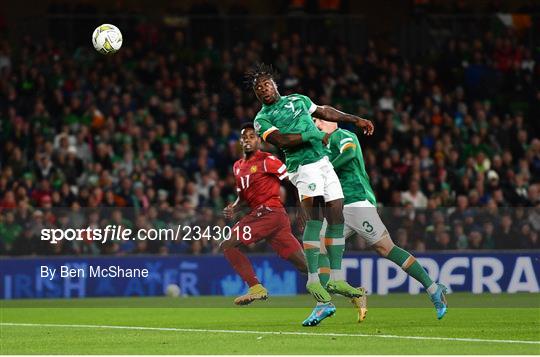
[[[325,233],[325,247],[330,260],[330,280],[326,285],[326,289],[331,293],[349,298],[360,297],[362,292],[345,281],[345,274],[341,269],[341,261],[345,251],[343,199],[326,202],[325,216],[328,222]]]

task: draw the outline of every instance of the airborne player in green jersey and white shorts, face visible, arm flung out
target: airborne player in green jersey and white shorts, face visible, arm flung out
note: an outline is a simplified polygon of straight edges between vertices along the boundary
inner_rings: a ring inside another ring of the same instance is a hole
[[[332,315],[329,291],[348,297],[362,293],[344,279],[341,260],[345,247],[343,237],[343,192],[339,179],[330,164],[323,146],[326,134],[313,123],[312,115],[330,121],[354,123],[365,134],[373,133],[369,120],[342,113],[330,106],[318,106],[300,94],[281,96],[270,66],[256,65],[246,73],[248,84],[262,103],[254,126],[263,140],[279,147],[286,157],[289,179],[296,186],[307,221],[303,233],[304,252],[308,265],[308,292],[320,303],[320,316]],[[323,217],[319,206],[324,206],[328,228],[325,244],[330,260],[330,280],[323,287],[319,280],[319,233]]]

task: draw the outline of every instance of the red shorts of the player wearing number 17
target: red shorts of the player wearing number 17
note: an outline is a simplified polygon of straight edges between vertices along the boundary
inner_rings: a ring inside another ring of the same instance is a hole
[[[234,225],[231,239],[238,239],[244,245],[266,239],[283,259],[302,250],[302,246],[291,232],[291,222],[283,207],[261,206],[254,209]]]

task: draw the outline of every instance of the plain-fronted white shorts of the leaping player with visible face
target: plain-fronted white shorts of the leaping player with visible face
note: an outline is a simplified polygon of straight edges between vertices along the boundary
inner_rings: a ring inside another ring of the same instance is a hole
[[[300,165],[289,179],[296,186],[300,200],[306,196],[323,196],[325,202],[343,198],[339,178],[326,156],[311,164]]]

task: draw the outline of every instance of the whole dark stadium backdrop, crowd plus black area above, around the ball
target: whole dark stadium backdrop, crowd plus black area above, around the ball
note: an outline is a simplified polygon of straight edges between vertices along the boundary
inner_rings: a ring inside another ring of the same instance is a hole
[[[536,2],[176,3],[2,2],[0,254],[219,254],[216,242],[38,235],[90,220],[226,224],[256,61],[281,72],[282,94],[373,120],[360,141],[399,245],[540,247]],[[124,36],[106,57],[90,41],[104,22]]]

